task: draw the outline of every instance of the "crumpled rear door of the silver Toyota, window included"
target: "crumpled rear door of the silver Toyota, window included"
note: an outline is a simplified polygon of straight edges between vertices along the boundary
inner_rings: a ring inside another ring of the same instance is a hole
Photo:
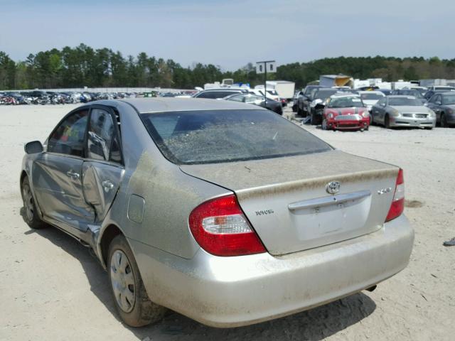
[[[109,107],[92,107],[82,189],[85,201],[95,210],[95,224],[105,219],[124,174],[119,123],[119,115]]]

